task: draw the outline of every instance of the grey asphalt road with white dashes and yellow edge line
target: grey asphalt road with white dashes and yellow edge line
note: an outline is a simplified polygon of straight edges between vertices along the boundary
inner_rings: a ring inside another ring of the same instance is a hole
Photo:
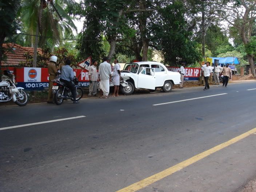
[[[249,82],[0,106],[0,191],[112,192],[136,182],[141,192],[239,191],[256,175],[256,134],[198,154],[256,127],[255,93]],[[141,181],[154,174],[163,178]]]

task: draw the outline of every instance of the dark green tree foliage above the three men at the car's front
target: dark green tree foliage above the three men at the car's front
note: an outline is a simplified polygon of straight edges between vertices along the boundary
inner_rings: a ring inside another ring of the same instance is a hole
[[[128,1],[123,0],[85,0],[81,3],[80,14],[85,16],[84,29],[77,48],[80,57],[92,55],[100,59],[104,53],[101,42],[105,38],[110,47],[107,53],[108,59],[115,54],[116,42],[126,30],[123,18],[123,9]]]

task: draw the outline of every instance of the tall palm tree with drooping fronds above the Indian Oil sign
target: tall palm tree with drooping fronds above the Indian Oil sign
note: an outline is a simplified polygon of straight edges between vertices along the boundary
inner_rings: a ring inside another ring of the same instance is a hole
[[[17,17],[23,23],[21,33],[30,34],[24,39],[34,47],[33,67],[36,67],[38,45],[53,51],[55,45],[61,44],[61,39],[73,37],[72,29],[77,31],[72,20],[76,18],[65,12],[68,3],[70,0],[22,0]],[[75,1],[72,3],[76,4]]]

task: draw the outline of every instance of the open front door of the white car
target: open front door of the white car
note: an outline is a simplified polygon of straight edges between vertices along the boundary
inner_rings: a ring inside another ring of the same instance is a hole
[[[145,67],[138,75],[137,87],[155,89],[155,69]]]

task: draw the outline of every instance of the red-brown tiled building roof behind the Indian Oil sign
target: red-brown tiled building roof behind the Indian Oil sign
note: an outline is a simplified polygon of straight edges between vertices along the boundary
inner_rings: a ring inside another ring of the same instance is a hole
[[[2,60],[1,64],[3,66],[7,65],[19,65],[21,61],[25,62],[27,61],[25,57],[23,57],[24,53],[29,53],[33,56],[34,48],[33,47],[22,47],[18,44],[8,43],[3,44],[3,48],[8,49],[5,52],[5,55],[7,56],[6,60]],[[43,51],[41,48],[37,48],[37,52],[39,52],[41,55],[43,54]]]

